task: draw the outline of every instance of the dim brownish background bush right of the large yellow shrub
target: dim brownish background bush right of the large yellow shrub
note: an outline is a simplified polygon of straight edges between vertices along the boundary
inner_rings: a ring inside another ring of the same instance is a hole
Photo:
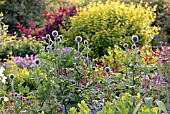
[[[140,0],[121,0],[122,2],[139,3]],[[157,5],[156,8],[156,19],[152,23],[153,26],[161,27],[159,36],[152,41],[152,45],[157,45],[159,41],[164,41],[164,45],[170,45],[170,1],[169,0],[143,0],[143,2],[148,2],[149,6]]]

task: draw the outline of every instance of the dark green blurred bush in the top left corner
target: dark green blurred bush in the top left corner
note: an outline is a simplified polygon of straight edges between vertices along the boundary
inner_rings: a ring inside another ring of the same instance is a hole
[[[1,0],[0,11],[4,13],[3,22],[9,25],[9,32],[17,31],[16,22],[28,26],[28,20],[43,22],[44,0]]]

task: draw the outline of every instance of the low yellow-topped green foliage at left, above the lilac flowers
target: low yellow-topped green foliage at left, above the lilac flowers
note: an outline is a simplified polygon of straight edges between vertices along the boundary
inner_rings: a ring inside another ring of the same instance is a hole
[[[42,44],[34,41],[33,38],[27,40],[25,37],[17,38],[16,35],[6,36],[5,40],[1,42],[0,47],[1,61],[6,61],[6,59],[10,59],[12,56],[25,57],[26,54],[36,55],[43,48]]]

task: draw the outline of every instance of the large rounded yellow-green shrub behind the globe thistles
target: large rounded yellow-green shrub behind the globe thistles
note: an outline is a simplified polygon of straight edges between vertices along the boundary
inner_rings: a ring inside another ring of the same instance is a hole
[[[71,27],[63,29],[63,34],[68,45],[75,46],[73,40],[78,35],[87,39],[94,56],[101,50],[106,53],[107,47],[114,44],[131,44],[133,35],[139,37],[139,45],[147,45],[159,30],[150,26],[156,18],[155,9],[156,6],[142,6],[142,3],[92,2],[70,18]]]

